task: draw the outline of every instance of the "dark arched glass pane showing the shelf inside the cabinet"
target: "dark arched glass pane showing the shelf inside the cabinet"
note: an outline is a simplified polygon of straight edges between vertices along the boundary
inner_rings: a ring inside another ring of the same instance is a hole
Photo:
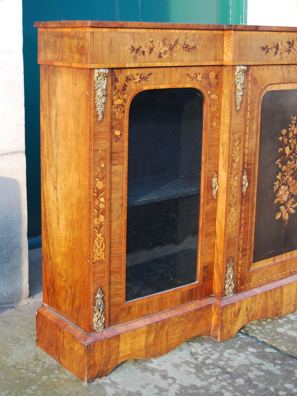
[[[126,301],[196,282],[203,95],[149,89],[129,109]]]

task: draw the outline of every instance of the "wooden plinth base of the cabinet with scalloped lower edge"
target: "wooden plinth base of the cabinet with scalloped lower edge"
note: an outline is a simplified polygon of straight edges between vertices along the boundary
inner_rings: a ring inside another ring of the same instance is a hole
[[[297,309],[297,275],[224,299],[208,297],[87,334],[45,306],[37,311],[37,345],[84,382],[121,362],[165,354],[195,335],[224,341],[248,322]]]

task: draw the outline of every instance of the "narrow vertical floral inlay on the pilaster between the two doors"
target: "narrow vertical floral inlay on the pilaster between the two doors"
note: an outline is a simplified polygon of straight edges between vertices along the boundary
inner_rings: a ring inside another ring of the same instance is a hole
[[[235,135],[235,143],[232,147],[232,164],[230,167],[230,183],[229,188],[231,190],[229,195],[229,213],[228,213],[228,229],[227,233],[230,231],[236,231],[236,212],[235,204],[237,202],[238,196],[238,161],[239,161],[239,140],[237,135]]]

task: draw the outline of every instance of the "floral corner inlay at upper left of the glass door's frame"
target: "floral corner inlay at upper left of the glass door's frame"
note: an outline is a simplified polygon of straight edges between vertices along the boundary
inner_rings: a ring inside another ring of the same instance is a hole
[[[134,74],[119,74],[114,76],[114,96],[113,96],[113,137],[118,142],[124,132],[124,115],[126,110],[126,102],[129,98],[129,89],[132,83],[137,86],[138,84],[144,84],[150,81],[152,73],[141,73],[134,76]]]

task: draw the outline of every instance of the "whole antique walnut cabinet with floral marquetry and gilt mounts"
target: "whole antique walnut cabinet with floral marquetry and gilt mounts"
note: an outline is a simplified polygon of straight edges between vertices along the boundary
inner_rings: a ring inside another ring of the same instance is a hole
[[[297,309],[297,29],[35,26],[38,346],[88,382]]]

